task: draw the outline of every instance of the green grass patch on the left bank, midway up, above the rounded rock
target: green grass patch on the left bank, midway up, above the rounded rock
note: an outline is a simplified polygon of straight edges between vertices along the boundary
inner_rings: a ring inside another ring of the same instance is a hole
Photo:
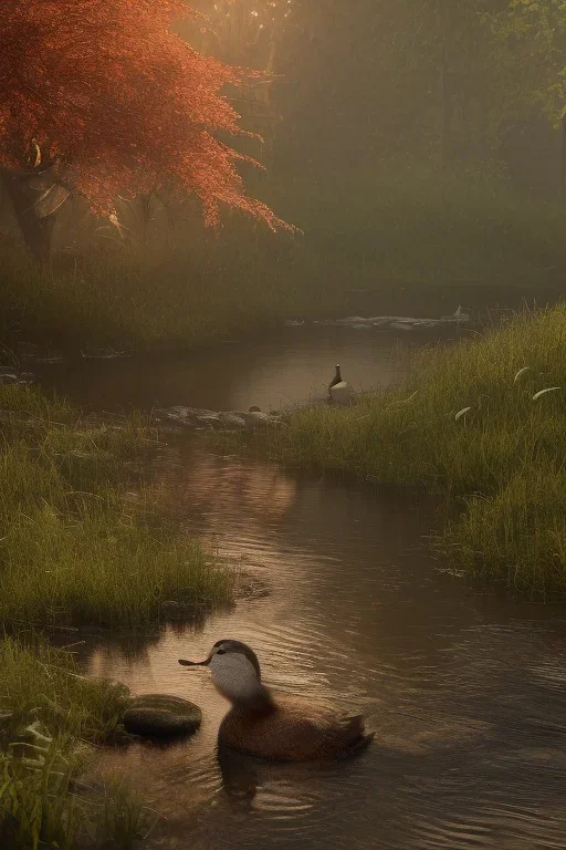
[[[13,385],[0,386],[0,410],[12,414],[0,419],[0,621],[132,628],[168,599],[229,599],[228,573],[142,484],[155,450],[143,422],[87,428]]]

